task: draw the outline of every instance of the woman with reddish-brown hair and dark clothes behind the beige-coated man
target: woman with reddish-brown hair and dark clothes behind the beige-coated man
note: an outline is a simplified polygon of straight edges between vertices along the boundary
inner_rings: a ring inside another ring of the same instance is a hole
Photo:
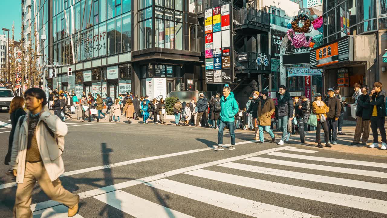
[[[8,152],[5,155],[5,160],[4,160],[5,165],[9,165],[9,161],[11,161],[12,143],[14,142],[14,133],[15,133],[17,121],[21,116],[26,115],[26,111],[24,111],[23,106],[24,106],[24,98],[20,96],[16,96],[12,99],[11,105],[9,107],[9,114],[10,114],[12,128],[9,133]],[[12,170],[8,170],[7,174],[13,175]]]

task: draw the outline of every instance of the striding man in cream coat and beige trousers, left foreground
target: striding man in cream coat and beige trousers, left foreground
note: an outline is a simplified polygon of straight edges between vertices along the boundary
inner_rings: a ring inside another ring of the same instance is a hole
[[[79,196],[64,189],[59,176],[65,171],[62,160],[67,126],[48,111],[46,94],[39,88],[24,93],[29,110],[16,123],[11,161],[17,190],[15,218],[32,218],[31,192],[36,182],[48,197],[69,207],[68,217],[78,212]]]

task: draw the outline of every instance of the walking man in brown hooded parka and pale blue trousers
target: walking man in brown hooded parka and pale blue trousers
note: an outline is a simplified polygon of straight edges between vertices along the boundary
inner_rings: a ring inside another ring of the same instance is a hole
[[[270,129],[271,125],[271,115],[274,113],[276,108],[274,107],[274,101],[268,95],[267,90],[263,90],[261,92],[262,99],[258,104],[258,112],[257,112],[257,126],[259,128],[259,136],[255,135],[255,137],[259,137],[257,143],[264,143],[264,129],[271,136],[271,141],[276,142],[276,137],[274,136],[273,131]]]

